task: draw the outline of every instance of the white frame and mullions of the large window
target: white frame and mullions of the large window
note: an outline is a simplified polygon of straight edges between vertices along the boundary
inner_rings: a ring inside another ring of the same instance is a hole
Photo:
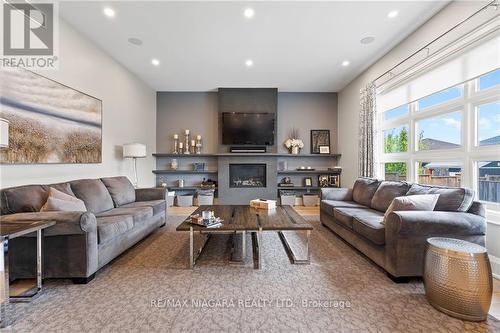
[[[409,182],[417,182],[417,163],[425,162],[455,162],[462,166],[461,186],[473,188],[478,194],[478,162],[500,161],[500,145],[479,146],[478,128],[478,106],[500,101],[500,85],[479,90],[479,78],[465,82],[462,85],[462,96],[448,102],[436,104],[434,106],[418,110],[418,101],[408,104],[408,114],[390,120],[384,120],[384,112],[377,112],[377,124],[379,125],[378,151],[378,175],[384,177],[384,164],[391,162],[405,162],[407,165],[406,178]],[[417,148],[416,123],[423,119],[460,111],[461,119],[461,147],[455,149],[425,150],[419,151]],[[400,153],[384,152],[383,131],[402,125],[408,125],[408,151]],[[500,223],[500,203],[484,202],[487,209],[491,211],[490,216],[494,216]]]

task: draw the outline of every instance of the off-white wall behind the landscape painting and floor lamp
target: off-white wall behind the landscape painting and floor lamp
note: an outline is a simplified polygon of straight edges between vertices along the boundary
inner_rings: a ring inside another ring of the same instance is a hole
[[[1,187],[114,175],[132,179],[132,160],[123,160],[121,150],[128,142],[147,145],[148,157],[138,160],[139,186],[152,186],[156,92],[63,20],[59,43],[59,70],[40,74],[102,100],[102,163],[2,165]]]

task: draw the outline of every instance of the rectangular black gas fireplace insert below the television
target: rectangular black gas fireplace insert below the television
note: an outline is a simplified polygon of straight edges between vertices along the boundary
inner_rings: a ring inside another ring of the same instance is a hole
[[[266,164],[229,164],[229,187],[266,187]]]

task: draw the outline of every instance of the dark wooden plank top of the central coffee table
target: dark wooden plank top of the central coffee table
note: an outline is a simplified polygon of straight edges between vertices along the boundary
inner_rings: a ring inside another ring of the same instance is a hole
[[[278,206],[276,209],[256,209],[248,205],[200,206],[194,214],[204,210],[213,210],[216,217],[224,220],[222,226],[205,228],[189,223],[190,217],[182,222],[177,231],[214,230],[214,231],[280,231],[280,230],[312,230],[308,224],[291,206]]]

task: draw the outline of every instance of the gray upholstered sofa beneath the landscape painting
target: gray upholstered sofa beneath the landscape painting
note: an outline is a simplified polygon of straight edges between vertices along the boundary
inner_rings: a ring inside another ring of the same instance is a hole
[[[50,187],[85,203],[86,212],[40,212]],[[86,283],[101,267],[165,224],[165,190],[135,189],[126,177],[26,185],[0,191],[1,221],[51,220],[45,231],[43,277]],[[35,237],[9,244],[11,279],[33,277]]]

